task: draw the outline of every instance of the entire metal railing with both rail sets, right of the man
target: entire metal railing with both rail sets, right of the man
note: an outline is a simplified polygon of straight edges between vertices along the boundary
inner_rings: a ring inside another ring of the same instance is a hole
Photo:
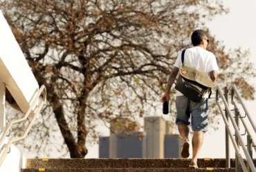
[[[226,89],[227,90],[227,89]],[[217,106],[219,107],[219,111],[221,112],[221,116],[223,118],[223,121],[225,122],[226,125],[226,131],[228,132],[228,136],[230,137],[230,140],[232,141],[232,144],[235,148],[235,153],[236,153],[236,164],[235,164],[235,168],[236,171],[239,171],[239,164],[241,165],[241,169],[243,171],[252,171],[252,172],[256,172],[255,166],[253,164],[253,157],[250,154],[250,149],[252,147],[251,144],[247,143],[247,147],[248,149],[246,149],[246,144],[244,144],[244,141],[241,138],[240,132],[239,132],[239,118],[241,119],[242,124],[244,125],[244,128],[246,129],[247,133],[248,133],[248,138],[252,138],[252,142],[253,142],[253,147],[255,149],[255,137],[254,134],[250,132],[250,130],[248,129],[249,126],[246,124],[246,122],[244,121],[244,118],[248,118],[248,120],[250,121],[250,125],[253,127],[254,131],[255,131],[255,124],[250,116],[250,114],[248,113],[248,109],[246,108],[246,106],[244,105],[243,100],[241,99],[241,96],[239,95],[239,92],[237,91],[237,87],[232,86],[231,88],[232,91],[232,103],[235,106],[235,118],[236,120],[234,120],[229,105],[228,105],[228,91],[226,92],[226,97],[224,96],[221,87],[217,86],[217,92],[216,92],[216,103]],[[243,107],[244,111],[246,112],[246,115],[241,117],[241,112],[239,112],[238,109],[238,104],[237,101],[235,100],[235,96],[237,97],[237,99],[239,100],[239,103],[241,104],[241,106]],[[226,114],[224,114],[222,108],[221,108],[221,103],[219,101],[219,97],[221,98],[224,106],[225,106],[225,111]],[[232,125],[229,124],[228,120],[231,121]],[[235,137],[236,139],[233,137],[232,135],[232,128],[235,129]],[[227,140],[226,140],[226,144],[227,144]],[[241,155],[241,151],[239,149],[239,145],[241,144],[241,148],[244,151],[244,155],[246,156],[246,161],[247,161],[247,168],[246,168],[246,164],[244,163],[244,160],[242,158]],[[255,149],[256,152],[256,149]],[[229,155],[227,156],[229,157]],[[229,161],[229,158],[226,159],[227,161]],[[239,164],[238,164],[239,162]]]

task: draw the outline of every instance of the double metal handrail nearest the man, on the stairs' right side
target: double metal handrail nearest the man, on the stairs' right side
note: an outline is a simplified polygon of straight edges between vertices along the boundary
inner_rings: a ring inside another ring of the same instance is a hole
[[[237,94],[238,94],[238,92],[237,92]],[[239,127],[237,126],[235,120],[232,118],[231,111],[230,111],[230,109],[228,107],[228,102],[227,102],[226,98],[223,95],[221,87],[217,86],[216,103],[217,103],[217,106],[219,107],[219,111],[221,112],[221,116],[222,116],[222,118],[223,118],[223,120],[225,122],[225,126],[226,126],[226,129],[228,131],[228,136],[230,136],[230,140],[232,141],[232,144],[235,147],[235,152],[236,152],[237,158],[238,158],[238,160],[239,160],[239,162],[241,164],[241,168],[243,169],[243,171],[248,171],[246,169],[246,165],[244,163],[244,160],[243,160],[243,158],[241,156],[241,153],[240,153],[240,150],[239,150],[239,145],[237,144],[237,142],[235,142],[235,138],[232,137],[232,132],[231,132],[230,125],[228,123],[228,119],[226,118],[226,116],[224,115],[224,113],[223,113],[223,111],[221,109],[221,104],[219,103],[219,96],[220,96],[221,100],[223,101],[223,103],[225,105],[225,109],[226,109],[228,117],[230,118],[230,121],[232,123],[232,127],[235,129],[235,132],[237,133],[237,138],[238,138],[239,142],[241,143],[241,147],[242,147],[242,149],[244,151],[244,155],[246,155],[246,160],[248,162],[250,170],[253,171],[253,172],[256,172],[255,166],[253,164],[253,160],[250,157],[250,154],[248,153],[248,150],[246,149],[246,146],[245,146],[241,136],[239,135]],[[240,101],[242,102],[242,100],[240,100]]]

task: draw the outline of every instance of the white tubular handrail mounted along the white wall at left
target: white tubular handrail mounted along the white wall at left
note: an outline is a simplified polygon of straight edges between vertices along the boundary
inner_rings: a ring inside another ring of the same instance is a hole
[[[40,96],[42,94],[43,94],[43,98],[41,99]],[[37,104],[38,103],[37,101],[40,99],[41,99],[41,102],[39,104]],[[30,131],[31,127],[33,126],[33,123],[35,121],[37,114],[41,111],[41,109],[45,103],[46,103],[46,87],[44,87],[44,85],[42,85],[42,87],[40,87],[40,89],[37,91],[37,93],[33,96],[32,100],[31,100],[30,107],[28,108],[28,111],[26,112],[26,115],[24,116],[24,118],[21,118],[19,120],[12,120],[5,127],[5,129],[3,130],[3,133],[1,134],[1,138],[0,138],[0,148],[1,148],[0,149],[0,152],[1,152],[0,166],[3,163],[3,160],[6,158],[6,155],[8,154],[11,144],[13,144],[15,142],[19,142],[20,140],[23,140],[24,138],[26,138],[26,136],[28,136],[28,132]],[[12,128],[12,126],[19,122],[23,122],[23,121],[27,120],[27,118],[29,116],[31,116],[32,120],[28,124],[24,134],[17,138],[12,138],[11,140],[8,141],[8,143],[3,144],[3,141],[5,140],[6,136],[10,132],[10,129]]]

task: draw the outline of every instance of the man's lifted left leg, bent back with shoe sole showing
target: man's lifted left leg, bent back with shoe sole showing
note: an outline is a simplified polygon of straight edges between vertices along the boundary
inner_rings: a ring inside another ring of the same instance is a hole
[[[190,144],[188,142],[188,133],[190,132],[190,129],[188,128],[188,125],[178,125],[179,133],[181,135],[181,138],[183,138],[183,147],[181,150],[181,157],[182,158],[188,158],[190,156]]]

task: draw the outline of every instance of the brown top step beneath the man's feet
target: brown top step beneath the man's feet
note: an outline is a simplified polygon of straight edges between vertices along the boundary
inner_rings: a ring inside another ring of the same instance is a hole
[[[256,165],[256,160],[254,161]],[[187,168],[190,159],[28,159],[26,169]],[[200,168],[225,168],[225,159],[199,159]],[[231,167],[235,160],[231,160]]]

